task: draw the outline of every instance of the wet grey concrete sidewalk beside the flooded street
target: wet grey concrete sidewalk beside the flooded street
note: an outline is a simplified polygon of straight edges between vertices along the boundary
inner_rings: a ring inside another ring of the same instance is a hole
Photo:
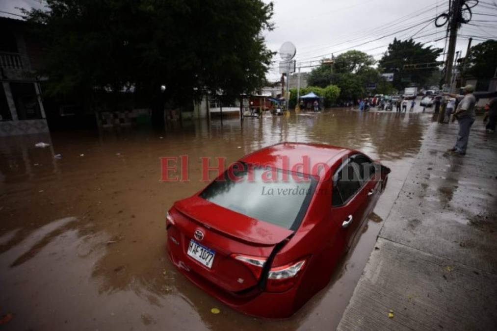
[[[497,135],[432,123],[338,330],[496,330]],[[393,317],[389,318],[389,312]]]

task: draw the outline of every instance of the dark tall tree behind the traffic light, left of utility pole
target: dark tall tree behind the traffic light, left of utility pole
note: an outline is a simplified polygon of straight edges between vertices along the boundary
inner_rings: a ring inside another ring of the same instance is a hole
[[[421,43],[415,43],[413,39],[401,41],[396,38],[379,61],[379,68],[382,72],[394,73],[393,86],[398,90],[412,84],[422,87],[428,82],[430,75],[438,69],[404,69],[404,66],[435,62],[441,53],[441,48],[424,47]]]

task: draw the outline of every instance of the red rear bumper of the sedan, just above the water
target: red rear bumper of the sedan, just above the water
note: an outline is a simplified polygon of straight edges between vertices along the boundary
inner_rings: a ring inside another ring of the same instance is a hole
[[[167,241],[166,247],[170,260],[186,278],[209,295],[235,310],[257,317],[286,318],[293,315],[300,308],[300,306],[295,307],[294,304],[299,284],[283,293],[263,292],[258,288],[252,288],[243,293],[229,292],[195,272],[189,264],[196,262],[180,253],[176,253],[177,248],[175,244],[171,244],[171,241]]]

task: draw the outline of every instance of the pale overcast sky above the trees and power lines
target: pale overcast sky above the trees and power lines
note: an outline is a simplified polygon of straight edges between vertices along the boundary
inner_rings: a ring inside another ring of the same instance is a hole
[[[42,3],[43,0],[0,0],[0,10],[18,14],[16,7],[42,8]],[[394,37],[413,36],[415,41],[426,45],[440,48],[445,45],[445,26],[436,28],[433,22],[426,21],[446,12],[448,0],[273,0],[273,3],[275,29],[263,33],[267,46],[278,51],[283,42],[293,42],[297,48],[295,59],[302,66],[316,65],[331,53],[336,56],[349,49],[364,51],[378,60]],[[459,30],[456,51],[462,51],[462,56],[466,53],[468,36],[497,36],[497,0],[480,0],[473,8],[470,23],[475,25],[464,24]],[[473,39],[473,45],[482,41]],[[274,61],[268,75],[270,80],[279,77],[278,54]]]

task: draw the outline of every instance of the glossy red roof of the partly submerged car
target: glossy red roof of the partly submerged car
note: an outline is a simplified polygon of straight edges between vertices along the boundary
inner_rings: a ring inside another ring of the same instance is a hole
[[[322,166],[318,167],[318,164],[326,164],[331,167],[338,159],[352,151],[343,147],[323,144],[280,143],[250,153],[240,161],[291,170],[294,165],[303,164],[304,156],[307,156],[309,157],[309,169],[299,166],[297,168],[298,172],[320,177],[325,173],[323,171],[319,173]],[[286,166],[284,163],[286,163]]]

